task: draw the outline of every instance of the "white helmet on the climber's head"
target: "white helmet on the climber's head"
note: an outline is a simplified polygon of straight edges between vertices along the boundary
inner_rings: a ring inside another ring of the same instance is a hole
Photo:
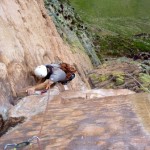
[[[34,70],[34,74],[39,78],[44,78],[47,76],[47,68],[44,65],[37,66]]]

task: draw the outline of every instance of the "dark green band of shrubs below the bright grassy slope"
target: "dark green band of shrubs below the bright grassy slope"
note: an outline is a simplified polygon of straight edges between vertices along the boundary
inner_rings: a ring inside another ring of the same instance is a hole
[[[121,35],[97,37],[95,44],[100,45],[100,51],[103,55],[109,56],[133,56],[138,52],[150,51],[150,40],[129,38]]]

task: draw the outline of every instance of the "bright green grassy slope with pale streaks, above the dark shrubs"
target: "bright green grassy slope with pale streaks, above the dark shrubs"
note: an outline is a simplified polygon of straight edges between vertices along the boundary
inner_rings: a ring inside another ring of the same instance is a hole
[[[105,32],[135,34],[150,31],[149,0],[70,0],[81,18]]]

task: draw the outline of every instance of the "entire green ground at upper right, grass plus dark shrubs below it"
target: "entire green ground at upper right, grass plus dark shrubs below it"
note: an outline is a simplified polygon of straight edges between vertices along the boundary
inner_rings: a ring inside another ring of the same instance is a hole
[[[149,0],[70,0],[93,33],[97,55],[150,52]],[[146,37],[134,35],[146,33]]]

